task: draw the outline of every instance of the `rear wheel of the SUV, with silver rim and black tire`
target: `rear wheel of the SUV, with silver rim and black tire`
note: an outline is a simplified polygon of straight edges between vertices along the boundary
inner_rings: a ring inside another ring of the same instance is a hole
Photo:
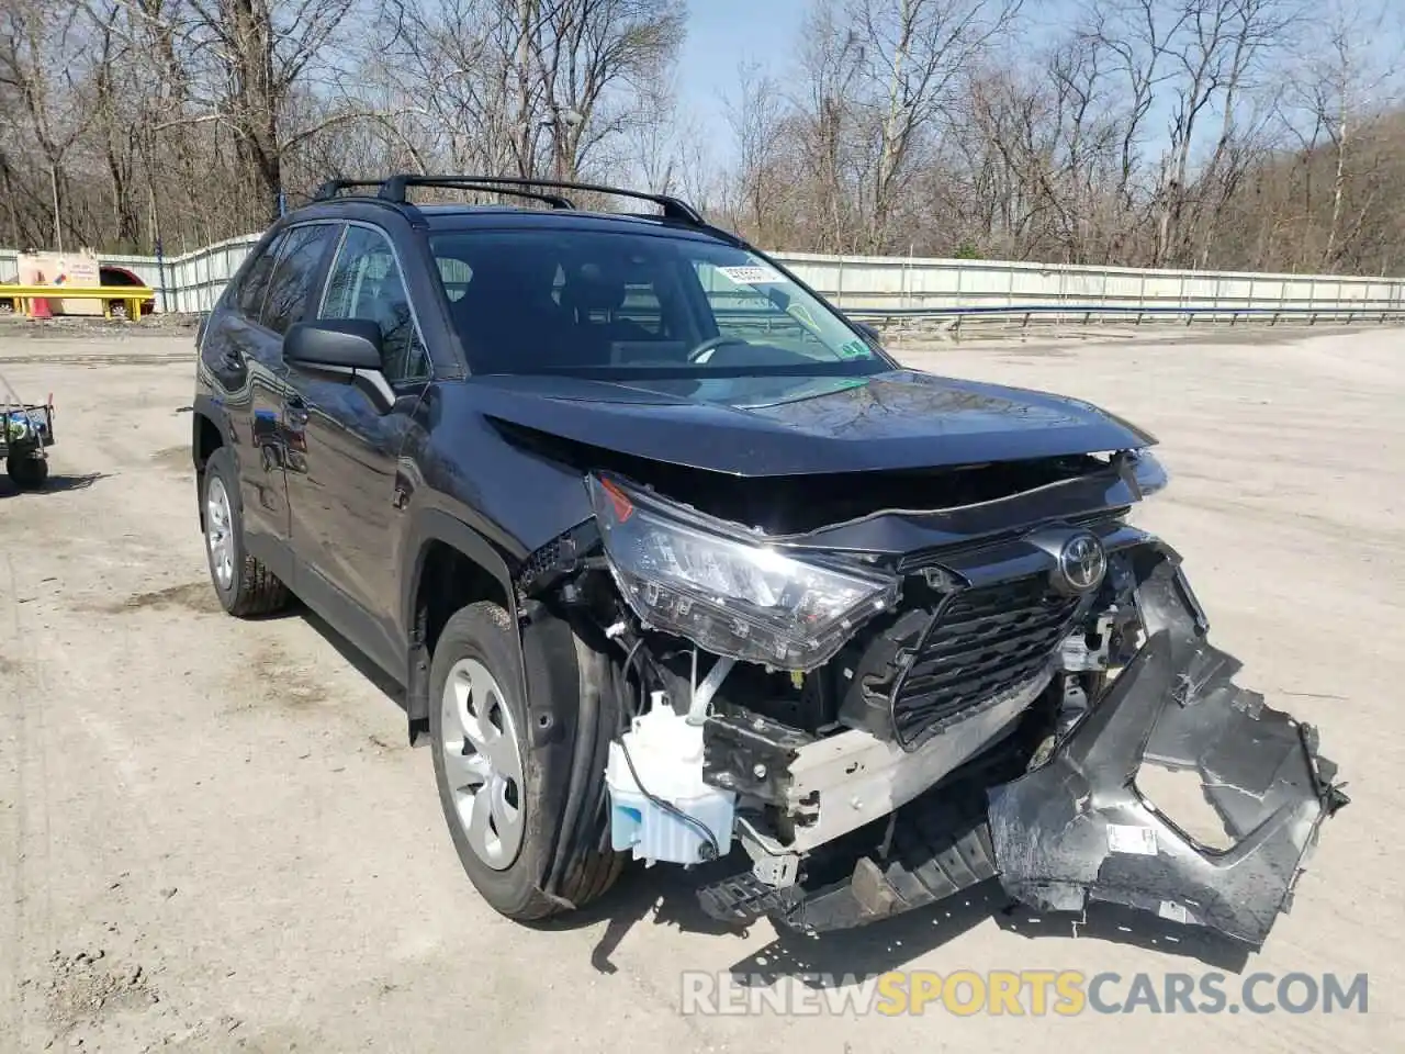
[[[244,548],[239,474],[226,447],[205,462],[201,482],[205,557],[221,607],[237,618],[266,616],[288,603],[288,587]]]

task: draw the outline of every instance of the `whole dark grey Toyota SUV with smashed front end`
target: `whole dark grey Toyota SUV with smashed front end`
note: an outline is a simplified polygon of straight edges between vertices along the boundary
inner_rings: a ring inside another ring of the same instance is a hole
[[[686,202],[336,181],[198,344],[221,603],[295,594],[400,686],[464,867],[514,919],[632,857],[717,861],[698,895],[742,923],[998,877],[1257,946],[1346,801],[1130,521],[1166,485],[1149,434],[906,370]],[[1144,763],[1197,772],[1232,846],[1159,811]]]

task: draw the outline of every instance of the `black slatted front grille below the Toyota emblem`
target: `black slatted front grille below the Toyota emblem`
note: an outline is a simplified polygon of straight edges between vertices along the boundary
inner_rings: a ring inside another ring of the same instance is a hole
[[[892,693],[898,742],[912,748],[953,717],[1047,668],[1079,597],[1044,576],[962,590],[937,609]]]

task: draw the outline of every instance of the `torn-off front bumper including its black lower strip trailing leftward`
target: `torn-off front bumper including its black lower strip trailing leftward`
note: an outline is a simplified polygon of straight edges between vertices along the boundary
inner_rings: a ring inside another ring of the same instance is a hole
[[[1322,821],[1347,798],[1315,731],[1232,683],[1239,662],[1207,641],[1176,555],[1156,548],[1134,561],[1146,641],[1048,760],[1014,779],[976,773],[929,790],[894,814],[877,852],[860,849],[851,873],[829,885],[747,890],[731,880],[731,890],[704,891],[704,905],[736,918],[750,902],[785,926],[822,932],[998,874],[1010,897],[1041,911],[1113,901],[1262,946]],[[1135,784],[1144,763],[1197,772],[1234,845],[1207,849],[1146,801]]]

